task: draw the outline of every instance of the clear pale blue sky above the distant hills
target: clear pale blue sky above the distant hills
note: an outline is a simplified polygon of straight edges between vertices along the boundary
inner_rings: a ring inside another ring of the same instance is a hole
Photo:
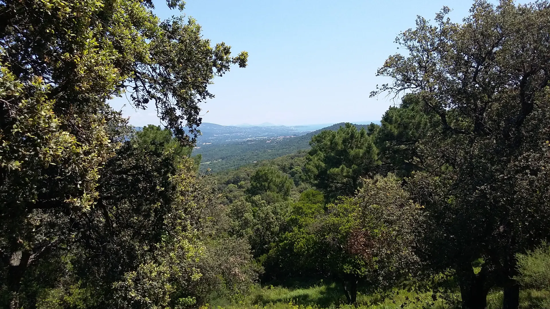
[[[226,42],[249,53],[248,67],[235,65],[209,87],[216,97],[202,104],[203,122],[277,125],[378,121],[389,98],[369,98],[389,80],[376,70],[403,51],[395,37],[415,26],[417,15],[433,19],[444,6],[459,22],[471,0],[189,0],[183,12],[157,1],[155,14],[192,16],[212,45]],[[124,106],[125,104],[125,106]],[[136,126],[160,124],[154,107],[136,112],[126,98],[111,102]],[[208,113],[206,113],[208,111]]]

